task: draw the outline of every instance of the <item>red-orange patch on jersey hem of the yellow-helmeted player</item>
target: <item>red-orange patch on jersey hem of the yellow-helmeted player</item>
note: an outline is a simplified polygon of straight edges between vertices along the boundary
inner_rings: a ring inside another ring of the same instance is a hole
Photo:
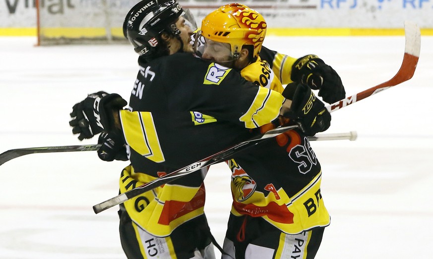
[[[233,207],[241,214],[250,215],[251,217],[267,216],[269,219],[283,224],[293,223],[293,213],[285,205],[278,205],[270,202],[264,207],[258,207],[253,204],[242,204],[233,202]]]

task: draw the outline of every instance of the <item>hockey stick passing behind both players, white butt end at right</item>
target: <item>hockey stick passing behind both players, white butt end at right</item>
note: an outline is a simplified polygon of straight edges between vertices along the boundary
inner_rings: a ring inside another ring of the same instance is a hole
[[[331,134],[318,134],[308,137],[309,141],[322,141],[322,140],[356,140],[356,132],[351,131],[348,133],[331,133]],[[0,165],[14,158],[37,153],[57,153],[57,152],[76,152],[76,151],[96,151],[101,147],[101,144],[93,145],[77,145],[77,146],[55,146],[55,147],[40,147],[40,148],[24,148],[24,149],[11,149],[0,154]]]

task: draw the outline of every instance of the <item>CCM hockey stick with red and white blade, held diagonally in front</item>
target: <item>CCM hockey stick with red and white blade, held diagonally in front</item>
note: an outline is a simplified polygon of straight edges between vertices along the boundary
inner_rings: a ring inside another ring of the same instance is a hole
[[[406,21],[405,22],[405,53],[404,53],[404,57],[403,57],[403,62],[401,64],[401,67],[399,69],[399,71],[397,72],[397,74],[390,80],[379,84],[375,87],[372,87],[368,90],[365,90],[359,94],[353,95],[349,98],[343,99],[339,102],[336,102],[334,104],[331,104],[329,106],[327,106],[326,108],[328,109],[329,112],[333,112],[339,108],[345,107],[349,104],[353,104],[357,101],[360,101],[362,99],[365,99],[373,94],[376,94],[382,90],[385,90],[389,87],[395,86],[397,84],[400,84],[404,81],[407,81],[409,79],[412,78],[412,76],[415,73],[415,69],[417,67],[417,63],[418,63],[418,58],[420,56],[420,49],[421,49],[421,33],[420,33],[420,29],[418,27],[418,25],[416,25],[415,23]],[[287,128],[287,127],[278,127],[276,129],[270,130],[266,133],[264,133],[263,135],[260,135],[260,139],[262,138],[271,138],[271,137],[275,137],[276,135],[279,135],[280,133],[283,133],[285,131],[288,131],[290,129],[293,129],[297,127],[292,126],[292,128]],[[284,130],[284,131],[282,131]],[[279,133],[277,133],[279,132]],[[136,197],[142,193],[145,193],[147,191],[150,191],[158,186],[161,186],[163,184],[169,183],[175,179],[178,179],[182,176],[185,176],[189,173],[192,173],[198,169],[201,169],[205,166],[220,162],[220,161],[224,161],[226,160],[226,158],[228,157],[228,155],[233,155],[234,152],[237,152],[236,149],[239,148],[246,148],[246,146],[252,146],[257,144],[258,142],[251,142],[247,141],[247,142],[242,142],[228,150],[224,150],[222,152],[219,152],[215,155],[212,155],[210,157],[207,157],[203,160],[200,160],[196,163],[192,163],[182,169],[179,169],[177,171],[174,171],[172,173],[169,173],[165,176],[162,176],[160,178],[157,178],[147,184],[141,185],[135,189],[132,189],[130,191],[126,191],[123,194],[120,194],[116,197],[113,197],[105,202],[102,202],[100,204],[97,204],[95,206],[93,206],[93,210],[95,211],[95,213],[99,213],[101,211],[104,211],[110,207],[114,207],[116,205],[119,205],[121,203],[124,203],[125,201]],[[252,145],[250,145],[250,143],[252,143]]]

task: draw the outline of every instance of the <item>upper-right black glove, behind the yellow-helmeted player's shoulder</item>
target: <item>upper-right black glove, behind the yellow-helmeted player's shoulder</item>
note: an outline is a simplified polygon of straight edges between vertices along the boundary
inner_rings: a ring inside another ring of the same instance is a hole
[[[304,83],[313,90],[319,90],[318,96],[328,104],[346,98],[340,76],[316,55],[307,55],[296,60],[290,78],[293,82]]]

